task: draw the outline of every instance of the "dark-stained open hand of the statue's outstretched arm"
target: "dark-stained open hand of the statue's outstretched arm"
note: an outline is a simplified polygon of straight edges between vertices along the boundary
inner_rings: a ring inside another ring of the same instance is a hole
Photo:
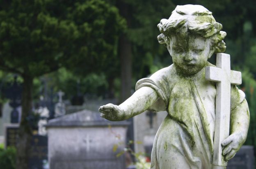
[[[121,107],[117,105],[113,105],[109,103],[107,105],[103,105],[99,108],[101,112],[101,117],[110,120],[110,121],[120,121],[125,120],[125,113]]]

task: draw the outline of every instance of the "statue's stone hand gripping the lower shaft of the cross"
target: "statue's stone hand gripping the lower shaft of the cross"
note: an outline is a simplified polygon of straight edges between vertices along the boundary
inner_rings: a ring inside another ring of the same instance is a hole
[[[233,133],[222,142],[222,154],[225,160],[230,160],[235,156],[235,153],[240,149],[244,139],[240,133]]]

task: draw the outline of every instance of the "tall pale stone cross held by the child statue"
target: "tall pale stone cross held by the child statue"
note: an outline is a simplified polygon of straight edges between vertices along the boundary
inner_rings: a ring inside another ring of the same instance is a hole
[[[240,85],[242,75],[230,69],[230,55],[217,54],[217,67],[206,67],[206,80],[217,82],[213,169],[226,169],[221,143],[229,136],[231,84]]]

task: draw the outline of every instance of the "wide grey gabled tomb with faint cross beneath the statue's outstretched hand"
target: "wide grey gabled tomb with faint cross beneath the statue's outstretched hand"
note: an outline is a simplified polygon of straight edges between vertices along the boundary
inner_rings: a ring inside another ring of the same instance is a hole
[[[124,169],[125,157],[116,155],[125,147],[128,124],[110,122],[89,110],[49,120],[50,169]]]

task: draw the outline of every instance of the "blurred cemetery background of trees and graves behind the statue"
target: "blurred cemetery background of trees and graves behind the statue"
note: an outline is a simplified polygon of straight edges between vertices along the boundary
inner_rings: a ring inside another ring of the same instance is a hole
[[[0,0],[0,168],[148,169],[167,113],[110,122],[98,107],[120,104],[137,80],[172,64],[157,24],[182,4],[203,5],[227,33],[251,113],[228,169],[253,169],[255,0]]]

